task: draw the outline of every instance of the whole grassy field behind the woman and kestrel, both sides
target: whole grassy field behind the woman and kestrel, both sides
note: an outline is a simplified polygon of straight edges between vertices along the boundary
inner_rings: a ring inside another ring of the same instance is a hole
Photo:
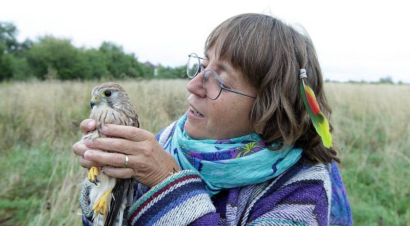
[[[80,224],[77,184],[86,170],[71,146],[98,83],[0,84],[0,225]],[[188,107],[186,80],[118,83],[153,133]],[[355,225],[410,225],[410,86],[325,87]]]

